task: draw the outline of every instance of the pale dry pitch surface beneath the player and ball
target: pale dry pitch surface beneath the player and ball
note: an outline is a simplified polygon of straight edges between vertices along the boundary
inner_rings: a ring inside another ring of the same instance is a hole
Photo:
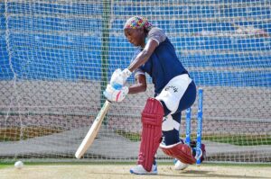
[[[271,164],[267,165],[233,165],[202,164],[190,166],[183,171],[175,171],[173,165],[162,163],[158,166],[159,175],[131,175],[131,163],[26,163],[22,169],[13,164],[1,164],[1,178],[20,179],[129,179],[129,178],[271,178]]]

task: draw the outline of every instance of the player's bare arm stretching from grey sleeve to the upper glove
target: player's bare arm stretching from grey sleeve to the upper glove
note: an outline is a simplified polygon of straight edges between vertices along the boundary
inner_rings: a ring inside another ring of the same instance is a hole
[[[137,67],[142,66],[152,56],[154,49],[159,45],[159,42],[150,39],[145,44],[145,48],[136,56],[135,60],[128,67],[129,71],[133,72]]]

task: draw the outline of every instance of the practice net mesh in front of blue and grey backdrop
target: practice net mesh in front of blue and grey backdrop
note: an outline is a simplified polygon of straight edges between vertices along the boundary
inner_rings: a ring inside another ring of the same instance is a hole
[[[2,161],[74,158],[109,76],[133,57],[123,25],[134,15],[164,29],[204,90],[206,160],[271,161],[270,1],[2,0],[0,11]],[[154,93],[147,80],[145,93],[112,105],[83,160],[135,160],[140,112]],[[192,138],[196,112],[197,103]],[[160,150],[157,158],[171,160]]]

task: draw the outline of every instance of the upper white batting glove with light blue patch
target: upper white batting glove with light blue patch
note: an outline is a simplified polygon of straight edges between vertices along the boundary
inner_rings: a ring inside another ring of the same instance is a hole
[[[126,80],[131,76],[132,72],[129,69],[124,69],[123,71],[120,68],[117,68],[111,76],[110,85],[115,89],[120,90],[122,86],[126,83]]]

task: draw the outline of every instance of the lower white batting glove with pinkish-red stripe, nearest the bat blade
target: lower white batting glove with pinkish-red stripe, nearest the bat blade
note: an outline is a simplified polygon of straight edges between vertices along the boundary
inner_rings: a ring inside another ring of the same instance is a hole
[[[103,94],[110,102],[122,102],[126,98],[128,91],[129,89],[127,86],[123,86],[120,90],[118,90],[115,89],[112,85],[107,85],[107,89]]]

